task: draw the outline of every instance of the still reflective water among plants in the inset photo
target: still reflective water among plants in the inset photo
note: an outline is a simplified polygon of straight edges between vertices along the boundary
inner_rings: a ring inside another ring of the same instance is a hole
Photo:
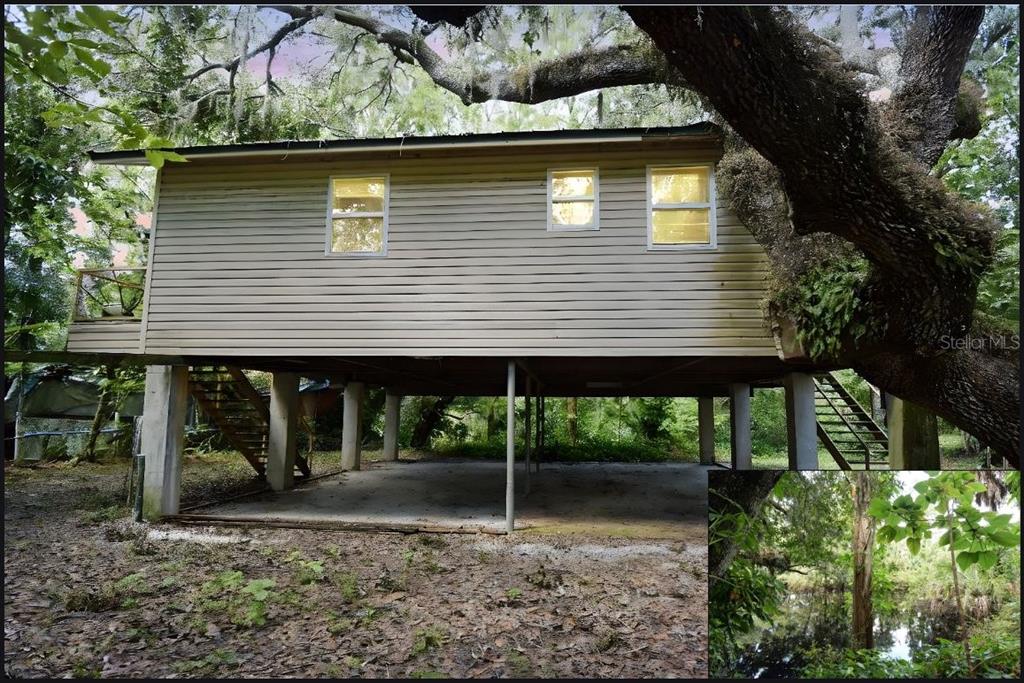
[[[843,594],[798,593],[786,596],[775,624],[743,638],[750,644],[733,663],[738,678],[791,678],[810,664],[812,646],[851,647],[850,609]],[[907,608],[874,620],[874,649],[894,659],[910,659],[939,638],[953,638],[955,622],[921,608]]]

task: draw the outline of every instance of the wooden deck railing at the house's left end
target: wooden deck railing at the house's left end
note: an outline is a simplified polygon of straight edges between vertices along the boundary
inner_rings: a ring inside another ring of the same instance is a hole
[[[72,322],[139,319],[144,291],[145,268],[80,268]]]

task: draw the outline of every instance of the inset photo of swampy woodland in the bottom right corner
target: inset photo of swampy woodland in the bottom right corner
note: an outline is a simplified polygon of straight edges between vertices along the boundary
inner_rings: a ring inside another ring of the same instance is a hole
[[[1019,472],[709,472],[711,678],[1020,678]]]

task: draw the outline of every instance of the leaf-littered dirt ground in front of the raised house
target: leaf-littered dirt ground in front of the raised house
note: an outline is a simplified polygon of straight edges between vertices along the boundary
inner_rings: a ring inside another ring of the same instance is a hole
[[[9,677],[706,676],[705,539],[150,527],[123,465],[4,479]]]

